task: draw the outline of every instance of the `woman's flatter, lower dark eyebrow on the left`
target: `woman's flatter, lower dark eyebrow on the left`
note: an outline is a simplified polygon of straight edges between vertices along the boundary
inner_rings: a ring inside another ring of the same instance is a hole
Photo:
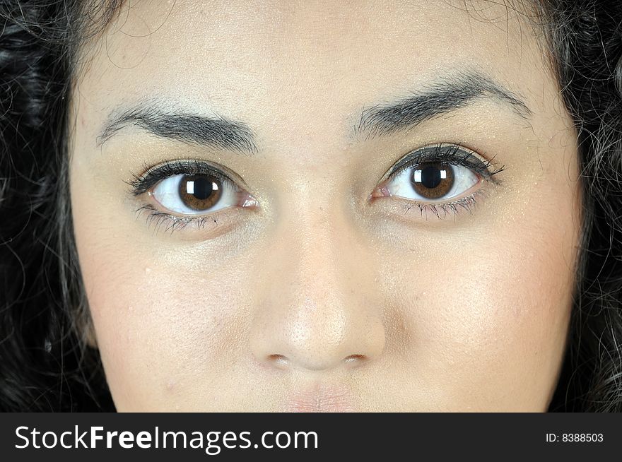
[[[112,138],[126,126],[134,125],[161,138],[172,138],[184,143],[213,146],[240,153],[257,153],[252,130],[242,122],[225,117],[206,117],[165,110],[158,102],[143,102],[108,117],[98,146]]]

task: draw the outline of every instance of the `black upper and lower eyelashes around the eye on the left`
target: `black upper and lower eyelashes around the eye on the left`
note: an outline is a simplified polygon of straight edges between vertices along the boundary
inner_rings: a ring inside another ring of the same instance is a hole
[[[145,172],[143,174],[140,176],[134,175],[134,177],[127,182],[131,187],[130,194],[134,197],[147,194],[151,191],[153,186],[163,179],[177,174],[209,174],[218,179],[222,184],[235,186],[235,182],[227,175],[223,174],[215,167],[211,167],[199,160],[172,160],[155,167],[148,167],[148,165],[145,165],[144,170]],[[218,225],[218,220],[216,220],[218,212],[211,215],[180,217],[171,215],[170,213],[160,212],[150,203],[143,204],[139,208],[136,208],[137,215],[142,212],[147,213],[147,225],[155,225],[155,232],[158,232],[162,227],[165,227],[164,230],[166,232],[172,233],[177,230],[183,230],[189,225],[194,225],[199,230],[204,229],[209,223]]]

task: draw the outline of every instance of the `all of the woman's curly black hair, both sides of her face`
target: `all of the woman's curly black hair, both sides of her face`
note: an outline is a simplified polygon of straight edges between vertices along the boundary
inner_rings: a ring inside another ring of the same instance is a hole
[[[79,49],[121,3],[0,0],[0,410],[115,409],[84,337],[67,135]],[[522,3],[536,11],[575,122],[583,188],[568,347],[549,410],[621,411],[622,3]]]

